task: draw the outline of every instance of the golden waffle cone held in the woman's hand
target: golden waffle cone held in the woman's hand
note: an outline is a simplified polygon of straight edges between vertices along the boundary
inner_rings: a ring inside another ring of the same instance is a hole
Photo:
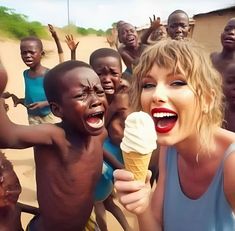
[[[151,154],[140,154],[136,152],[122,152],[125,169],[134,174],[135,180],[145,181]]]

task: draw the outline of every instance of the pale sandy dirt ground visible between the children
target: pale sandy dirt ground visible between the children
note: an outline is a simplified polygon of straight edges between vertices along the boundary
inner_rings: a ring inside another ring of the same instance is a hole
[[[76,38],[80,41],[77,48],[77,59],[89,62],[89,55],[92,51],[101,48],[109,47],[106,39],[103,37],[87,36]],[[63,41],[63,38],[61,38]],[[58,55],[53,41],[43,41],[46,56],[42,63],[43,65],[52,68],[58,64]],[[70,59],[70,50],[66,43],[62,42],[65,60]],[[0,39],[0,57],[8,72],[8,85],[7,91],[16,94],[19,97],[24,96],[24,82],[22,72],[26,69],[25,64],[22,62],[19,50],[19,41],[12,41]],[[12,121],[18,124],[28,124],[27,112],[24,107],[19,105],[13,107],[11,100],[6,100],[9,104],[10,110],[8,115]],[[9,160],[12,161],[14,169],[20,179],[22,185],[22,193],[20,201],[26,204],[37,206],[37,198],[35,192],[35,167],[33,159],[32,148],[24,150],[4,150]],[[133,228],[133,231],[138,231],[135,217],[130,213],[125,212],[125,215]],[[22,223],[25,227],[32,216],[29,214],[22,215]],[[122,228],[113,216],[107,212],[108,227],[110,231],[121,231]]]

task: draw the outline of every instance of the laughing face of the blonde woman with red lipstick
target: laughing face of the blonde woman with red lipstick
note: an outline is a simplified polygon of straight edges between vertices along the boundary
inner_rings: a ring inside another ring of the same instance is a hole
[[[142,79],[141,106],[154,119],[158,143],[175,145],[194,136],[199,107],[185,76],[153,65]]]

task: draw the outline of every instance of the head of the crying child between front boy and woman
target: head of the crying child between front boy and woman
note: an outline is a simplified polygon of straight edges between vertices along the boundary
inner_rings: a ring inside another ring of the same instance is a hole
[[[111,48],[100,48],[90,56],[90,65],[100,77],[107,97],[117,91],[122,75],[122,62],[119,53]]]

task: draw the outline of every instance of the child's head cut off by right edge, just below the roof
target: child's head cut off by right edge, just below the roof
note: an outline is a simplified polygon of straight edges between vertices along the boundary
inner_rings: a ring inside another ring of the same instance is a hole
[[[224,49],[235,51],[235,18],[231,18],[221,33],[221,43]]]

